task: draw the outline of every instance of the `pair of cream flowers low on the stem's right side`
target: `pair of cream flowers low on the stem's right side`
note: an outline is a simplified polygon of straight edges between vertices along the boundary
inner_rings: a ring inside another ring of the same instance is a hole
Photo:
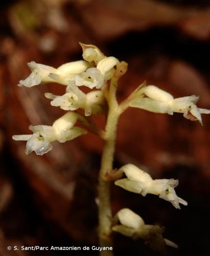
[[[115,175],[118,177],[125,174],[127,178],[118,179],[115,185],[118,185],[133,193],[146,196],[153,194],[159,196],[172,203],[172,205],[180,209],[179,204],[188,205],[188,203],[176,195],[174,188],[178,185],[178,180],[174,179],[156,179],[153,180],[151,176],[139,169],[133,164],[126,164],[119,170],[115,170]],[[121,209],[115,216],[115,222],[112,230],[123,234],[124,236],[131,237],[132,239],[143,239],[145,243],[155,250],[164,252],[165,246],[178,246],[168,239],[162,237],[164,228],[159,225],[146,225],[143,219],[135,214],[130,209]]]

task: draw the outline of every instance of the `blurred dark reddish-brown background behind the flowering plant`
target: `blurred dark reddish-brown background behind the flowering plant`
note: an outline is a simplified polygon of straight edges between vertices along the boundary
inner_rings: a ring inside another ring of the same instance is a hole
[[[170,3],[169,3],[170,2]],[[44,92],[58,84],[18,88],[34,60],[54,67],[81,59],[78,41],[129,63],[120,82],[123,100],[145,79],[175,97],[200,95],[210,108],[210,2],[184,0],[2,1],[0,15],[0,255],[58,255],[56,251],[7,251],[8,245],[97,245],[97,179],[102,141],[82,136],[53,143],[43,157],[25,155],[30,124],[47,124],[64,113]],[[99,125],[103,117],[96,117]],[[209,255],[210,117],[203,126],[174,116],[127,110],[119,123],[115,167],[128,162],[155,178],[179,179],[179,211],[155,196],[112,188],[113,212],[130,207],[148,224],[166,226],[179,249],[168,255]],[[159,255],[142,241],[114,235],[115,255]],[[97,255],[90,251],[89,255]],[[67,254],[87,255],[85,251]]]

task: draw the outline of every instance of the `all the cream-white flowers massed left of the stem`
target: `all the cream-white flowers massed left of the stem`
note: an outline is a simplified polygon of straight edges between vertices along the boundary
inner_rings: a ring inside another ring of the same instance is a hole
[[[52,150],[50,142],[65,142],[72,140],[86,132],[80,127],[75,127],[77,113],[72,112],[83,109],[85,116],[91,114],[104,114],[106,112],[106,100],[102,90],[94,90],[87,94],[79,87],[86,86],[90,89],[101,89],[103,84],[110,79],[115,71],[114,66],[119,63],[115,57],[106,57],[96,46],[80,44],[83,49],[83,59],[65,63],[55,69],[31,61],[28,63],[32,73],[20,80],[18,86],[33,87],[41,83],[57,82],[66,86],[65,94],[59,96],[45,93],[45,97],[51,99],[51,105],[59,106],[69,111],[54,122],[52,126],[29,126],[33,135],[14,135],[14,140],[26,140],[26,154],[34,151],[37,155],[43,155]]]

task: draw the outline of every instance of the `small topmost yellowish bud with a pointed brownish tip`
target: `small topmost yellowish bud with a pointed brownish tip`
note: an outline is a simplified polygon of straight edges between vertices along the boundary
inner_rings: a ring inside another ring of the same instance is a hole
[[[86,61],[94,61],[96,64],[105,58],[106,56],[99,50],[98,47],[94,45],[85,45],[82,42],[79,43],[82,47],[83,54],[82,57]]]

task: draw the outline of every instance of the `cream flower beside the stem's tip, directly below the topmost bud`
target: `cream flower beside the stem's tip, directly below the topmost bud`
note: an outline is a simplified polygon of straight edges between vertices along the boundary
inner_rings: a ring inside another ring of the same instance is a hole
[[[76,86],[87,86],[90,89],[100,89],[104,81],[109,80],[114,72],[114,66],[119,60],[114,57],[104,58],[99,61],[96,68],[89,68],[86,72],[75,75]]]

